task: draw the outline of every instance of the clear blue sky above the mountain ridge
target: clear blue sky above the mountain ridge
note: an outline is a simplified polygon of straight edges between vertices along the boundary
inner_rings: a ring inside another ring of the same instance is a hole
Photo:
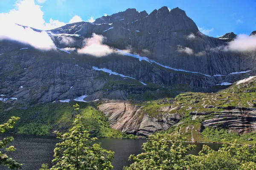
[[[9,13],[15,8],[15,3],[17,0],[0,0],[0,13]],[[90,17],[96,19],[127,8],[145,10],[149,14],[154,9],[167,6],[186,11],[201,31],[212,37],[231,31],[250,34],[256,30],[256,0],[35,0],[35,4],[41,6],[46,23],[51,18],[69,23],[75,15],[86,21]],[[30,15],[33,15],[33,11]]]

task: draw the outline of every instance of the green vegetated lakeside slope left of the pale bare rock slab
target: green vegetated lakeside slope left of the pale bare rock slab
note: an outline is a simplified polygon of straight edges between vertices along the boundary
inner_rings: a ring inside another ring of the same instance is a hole
[[[75,119],[75,112],[70,103],[48,103],[35,105],[27,109],[12,108],[10,111],[3,111],[8,108],[6,104],[0,102],[0,117],[9,119],[11,115],[21,118],[17,126],[12,130],[14,133],[51,135],[54,130],[67,131]],[[79,102],[80,114],[84,117],[84,125],[87,126],[92,136],[109,138],[135,138],[134,135],[127,135],[113,130],[101,111],[94,108],[89,103]],[[5,121],[3,120],[3,121]]]

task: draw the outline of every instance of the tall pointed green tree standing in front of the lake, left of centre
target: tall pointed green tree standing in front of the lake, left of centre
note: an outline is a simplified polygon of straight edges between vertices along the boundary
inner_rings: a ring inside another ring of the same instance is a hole
[[[74,105],[79,112],[79,105]],[[55,163],[50,170],[110,170],[113,152],[105,150],[100,144],[94,143],[97,138],[90,138],[89,131],[83,125],[79,114],[68,133],[55,131],[60,142],[54,149]],[[44,164],[41,170],[47,170]]]

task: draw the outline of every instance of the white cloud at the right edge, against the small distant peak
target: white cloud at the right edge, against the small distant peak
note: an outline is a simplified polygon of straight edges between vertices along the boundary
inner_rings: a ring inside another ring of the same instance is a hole
[[[240,34],[235,40],[228,43],[224,48],[225,51],[255,51],[256,36]]]

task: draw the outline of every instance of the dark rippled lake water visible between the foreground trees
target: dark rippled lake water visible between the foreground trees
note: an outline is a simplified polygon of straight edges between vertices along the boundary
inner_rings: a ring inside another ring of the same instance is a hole
[[[10,135],[8,135],[10,136]],[[32,136],[32,135],[12,135],[15,140],[11,143],[16,147],[14,153],[9,156],[13,159],[23,163],[23,170],[39,170],[41,164],[51,164],[53,159],[53,150],[55,144],[58,142],[54,136]],[[3,135],[0,139],[3,139]],[[141,145],[146,142],[145,139],[107,139],[102,138],[98,140],[102,143],[102,147],[114,151],[114,159],[112,165],[113,170],[122,170],[123,166],[131,164],[128,157],[132,154],[142,153]],[[203,144],[209,145],[212,149],[218,150],[221,144],[216,143],[193,143],[197,147],[191,153],[198,154],[202,149]],[[0,170],[8,170],[6,167],[1,167]]]

